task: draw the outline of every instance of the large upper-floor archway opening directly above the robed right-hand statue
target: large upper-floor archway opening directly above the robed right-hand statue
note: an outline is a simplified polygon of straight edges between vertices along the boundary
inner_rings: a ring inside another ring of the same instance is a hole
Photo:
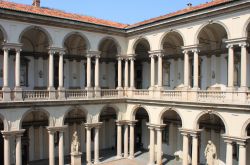
[[[227,86],[227,29],[219,23],[207,24],[197,35],[199,44],[199,87],[208,90],[225,90]],[[191,60],[193,61],[193,60]],[[193,62],[191,63],[193,64]],[[190,66],[193,77],[193,65]],[[235,73],[239,71],[239,60],[235,58]],[[201,75],[208,75],[201,82]],[[225,76],[223,76],[225,75]],[[193,84],[191,79],[191,84]],[[236,74],[235,85],[239,83],[239,74]]]

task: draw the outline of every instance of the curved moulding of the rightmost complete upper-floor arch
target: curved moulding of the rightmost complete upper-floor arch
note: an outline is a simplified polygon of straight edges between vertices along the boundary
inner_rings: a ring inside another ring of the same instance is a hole
[[[212,22],[207,22],[205,24],[203,24],[202,26],[199,27],[199,29],[197,30],[197,32],[194,35],[194,44],[199,44],[199,35],[202,32],[202,30],[207,26],[207,25],[212,25],[212,24],[217,24],[219,26],[221,26],[222,28],[224,28],[224,30],[227,33],[227,38],[231,38],[231,34],[230,31],[228,29],[228,27],[221,21],[212,21]]]

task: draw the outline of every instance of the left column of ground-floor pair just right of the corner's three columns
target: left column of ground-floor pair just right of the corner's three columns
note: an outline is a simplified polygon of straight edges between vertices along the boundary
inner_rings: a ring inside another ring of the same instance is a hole
[[[150,147],[149,147],[149,165],[155,164],[155,130],[149,126],[150,130]]]

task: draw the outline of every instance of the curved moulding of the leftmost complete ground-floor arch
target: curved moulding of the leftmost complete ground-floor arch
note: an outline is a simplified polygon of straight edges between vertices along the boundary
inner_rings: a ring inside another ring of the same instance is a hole
[[[47,118],[48,118],[48,122],[49,122],[49,126],[54,126],[54,120],[52,118],[52,116],[50,115],[50,113],[43,109],[43,108],[32,108],[32,109],[29,109],[27,110],[22,116],[21,116],[21,119],[19,121],[19,129],[22,129],[22,123],[23,123],[23,120],[25,119],[25,117],[30,114],[31,112],[43,112],[47,115]]]

